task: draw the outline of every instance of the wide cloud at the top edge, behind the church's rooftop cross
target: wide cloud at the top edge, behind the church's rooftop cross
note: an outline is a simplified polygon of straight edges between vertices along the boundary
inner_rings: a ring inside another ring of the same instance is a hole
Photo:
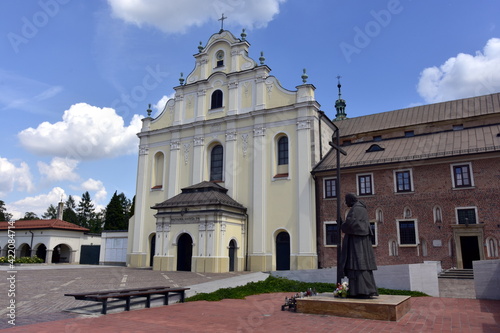
[[[286,0],[108,0],[112,13],[137,26],[152,25],[166,33],[183,33],[192,26],[216,21],[224,13],[225,24],[265,27]]]

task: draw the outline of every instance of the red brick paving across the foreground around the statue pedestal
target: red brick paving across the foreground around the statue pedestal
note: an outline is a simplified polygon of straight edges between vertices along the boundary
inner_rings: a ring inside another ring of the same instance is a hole
[[[20,326],[7,332],[500,332],[500,302],[412,297],[411,309],[398,322],[281,311],[286,293],[244,300],[188,302]]]

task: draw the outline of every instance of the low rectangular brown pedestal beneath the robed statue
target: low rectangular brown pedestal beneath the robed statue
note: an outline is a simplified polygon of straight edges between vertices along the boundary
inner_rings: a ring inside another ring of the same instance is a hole
[[[409,310],[410,296],[380,295],[372,299],[356,299],[324,293],[297,299],[297,312],[339,317],[398,321]]]

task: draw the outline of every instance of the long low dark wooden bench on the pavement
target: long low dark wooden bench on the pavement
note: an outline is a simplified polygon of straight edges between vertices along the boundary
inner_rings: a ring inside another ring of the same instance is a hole
[[[168,298],[171,295],[179,295],[180,302],[184,302],[185,291],[189,288],[170,288],[170,287],[146,287],[135,289],[104,290],[87,293],[71,293],[64,296],[72,296],[77,300],[94,301],[102,303],[101,314],[107,313],[108,299],[125,299],[125,311],[130,311],[130,299],[132,297],[145,297],[146,308],[151,307],[151,295],[163,295],[163,304],[168,305]]]

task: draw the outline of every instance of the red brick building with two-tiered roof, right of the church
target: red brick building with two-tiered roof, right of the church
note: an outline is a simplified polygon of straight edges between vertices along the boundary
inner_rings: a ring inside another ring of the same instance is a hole
[[[339,87],[340,89],[340,87]],[[343,197],[368,206],[378,265],[440,261],[472,268],[498,259],[500,240],[500,93],[345,118],[340,130]],[[336,153],[316,181],[318,267],[336,266]]]

